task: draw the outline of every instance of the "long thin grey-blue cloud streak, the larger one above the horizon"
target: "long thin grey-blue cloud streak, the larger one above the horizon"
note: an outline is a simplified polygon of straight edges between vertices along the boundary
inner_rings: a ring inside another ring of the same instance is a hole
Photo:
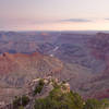
[[[85,23],[85,22],[92,22],[92,20],[87,20],[87,19],[66,19],[66,20],[60,20],[60,22]]]

